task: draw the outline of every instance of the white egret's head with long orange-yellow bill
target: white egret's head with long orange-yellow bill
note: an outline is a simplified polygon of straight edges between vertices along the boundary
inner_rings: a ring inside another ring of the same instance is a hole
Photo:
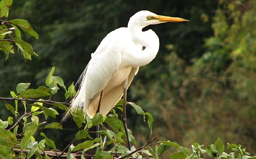
[[[166,23],[166,22],[184,22],[188,21],[183,18],[179,17],[167,17],[167,16],[161,16],[154,14],[147,10],[141,10],[134,14],[132,17],[130,17],[130,21],[133,24],[139,24],[142,27],[146,27],[151,24],[160,24],[160,23]]]

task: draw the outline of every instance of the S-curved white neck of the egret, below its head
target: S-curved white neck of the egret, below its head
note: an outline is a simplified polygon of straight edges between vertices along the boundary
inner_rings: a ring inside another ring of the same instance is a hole
[[[146,47],[141,52],[133,53],[133,67],[143,66],[150,63],[157,55],[159,50],[159,38],[153,30],[142,31],[143,26],[141,24],[128,23],[128,30],[132,41],[135,44]]]

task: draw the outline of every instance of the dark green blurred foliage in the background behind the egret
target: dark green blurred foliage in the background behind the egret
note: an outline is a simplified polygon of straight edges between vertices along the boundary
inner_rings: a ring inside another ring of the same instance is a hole
[[[32,61],[0,54],[0,96],[18,83],[45,85],[52,66],[69,86],[77,81],[100,41],[126,27],[139,10],[182,17],[188,23],[148,26],[160,38],[157,57],[140,68],[128,101],[154,117],[153,136],[184,147],[198,142],[241,144],[256,154],[256,1],[255,0],[17,0],[10,19],[28,20],[39,35],[26,39],[38,54]],[[62,96],[53,100],[65,101]],[[0,115],[4,106],[1,103]],[[128,109],[128,127],[137,144],[148,141],[142,117]],[[57,118],[59,121],[61,115]],[[70,128],[70,122],[64,128]],[[67,145],[72,130],[49,132]]]

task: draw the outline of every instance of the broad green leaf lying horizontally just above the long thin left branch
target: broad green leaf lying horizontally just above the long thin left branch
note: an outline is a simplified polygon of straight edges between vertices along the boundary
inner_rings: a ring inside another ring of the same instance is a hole
[[[51,95],[48,92],[42,92],[36,89],[27,89],[23,92],[20,93],[20,95],[18,95],[18,97],[20,98],[40,98],[40,97],[44,97],[44,96],[49,96]]]

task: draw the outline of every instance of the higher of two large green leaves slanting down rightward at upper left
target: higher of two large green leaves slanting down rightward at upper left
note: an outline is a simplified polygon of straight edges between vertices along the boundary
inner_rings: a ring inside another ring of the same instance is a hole
[[[10,20],[10,23],[18,25],[22,30],[24,30],[27,34],[33,36],[38,39],[38,34],[32,29],[31,25],[27,20],[23,19],[14,19]]]

